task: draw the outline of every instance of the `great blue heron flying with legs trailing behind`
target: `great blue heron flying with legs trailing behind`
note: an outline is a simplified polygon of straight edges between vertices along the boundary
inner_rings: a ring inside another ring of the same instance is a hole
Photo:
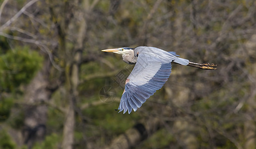
[[[117,48],[102,50],[104,52],[114,52],[123,55],[123,60],[127,64],[135,64],[129,74],[125,90],[121,97],[119,112],[124,110],[124,114],[141,107],[156,90],[160,89],[167,81],[171,73],[171,63],[184,66],[191,66],[200,69],[216,70],[215,64],[198,64],[189,60],[179,58],[175,52],[166,52],[154,47]]]

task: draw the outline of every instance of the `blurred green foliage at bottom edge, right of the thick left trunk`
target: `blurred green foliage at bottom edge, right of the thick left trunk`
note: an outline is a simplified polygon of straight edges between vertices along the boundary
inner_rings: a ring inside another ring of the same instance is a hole
[[[44,142],[37,143],[32,149],[59,149],[61,137],[55,133],[46,136]]]

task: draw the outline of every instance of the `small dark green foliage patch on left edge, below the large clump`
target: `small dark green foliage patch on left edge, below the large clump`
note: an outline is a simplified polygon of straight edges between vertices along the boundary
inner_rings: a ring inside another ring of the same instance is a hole
[[[10,115],[10,108],[13,100],[11,98],[0,97],[0,122],[5,121]]]

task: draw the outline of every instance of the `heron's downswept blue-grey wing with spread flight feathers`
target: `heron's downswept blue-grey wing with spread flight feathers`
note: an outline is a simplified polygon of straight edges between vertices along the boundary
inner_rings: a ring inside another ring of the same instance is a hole
[[[159,49],[160,50],[160,49]],[[173,55],[168,58],[154,53],[139,53],[137,62],[127,78],[119,112],[136,111],[156,90],[160,89],[171,73]]]

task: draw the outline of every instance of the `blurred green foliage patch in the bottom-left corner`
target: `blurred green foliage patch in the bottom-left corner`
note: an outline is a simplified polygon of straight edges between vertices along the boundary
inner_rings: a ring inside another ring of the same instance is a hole
[[[5,131],[0,131],[0,149],[16,149],[15,144]]]

